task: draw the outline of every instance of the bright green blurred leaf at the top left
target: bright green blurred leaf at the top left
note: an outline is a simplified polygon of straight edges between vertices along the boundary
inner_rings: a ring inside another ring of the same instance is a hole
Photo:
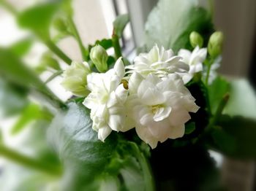
[[[18,15],[18,24],[34,31],[40,37],[48,38],[50,22],[57,9],[58,4],[54,2],[29,7]]]

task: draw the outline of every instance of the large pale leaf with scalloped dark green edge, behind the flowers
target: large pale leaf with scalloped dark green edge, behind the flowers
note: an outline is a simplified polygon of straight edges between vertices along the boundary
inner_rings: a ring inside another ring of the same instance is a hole
[[[197,0],[160,0],[146,22],[147,50],[158,44],[177,52],[181,48],[191,48],[189,34],[192,31],[208,35],[213,28],[211,15],[197,4]]]

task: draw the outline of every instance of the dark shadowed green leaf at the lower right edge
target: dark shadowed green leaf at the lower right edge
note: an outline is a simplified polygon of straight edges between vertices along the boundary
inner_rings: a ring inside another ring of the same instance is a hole
[[[223,115],[217,122],[208,139],[211,148],[224,155],[239,158],[256,158],[256,120],[244,117]]]

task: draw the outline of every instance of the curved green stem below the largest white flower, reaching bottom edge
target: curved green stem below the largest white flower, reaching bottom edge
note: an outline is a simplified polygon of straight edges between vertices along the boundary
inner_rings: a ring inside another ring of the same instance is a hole
[[[143,153],[140,152],[140,149],[138,148],[137,144],[131,142],[131,146],[132,146],[133,154],[138,159],[140,166],[142,168],[146,191],[154,191],[155,190],[154,178],[152,176],[151,166],[149,165],[148,160],[143,155]]]

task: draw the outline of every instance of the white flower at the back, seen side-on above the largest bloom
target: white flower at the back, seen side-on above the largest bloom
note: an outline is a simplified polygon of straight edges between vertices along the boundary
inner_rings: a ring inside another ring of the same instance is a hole
[[[181,61],[180,56],[175,56],[173,50],[165,50],[164,47],[155,45],[148,53],[141,53],[134,60],[134,65],[127,66],[133,71],[138,72],[143,77],[148,74],[156,74],[158,77],[164,77],[167,74],[175,72],[186,72],[189,66]]]

